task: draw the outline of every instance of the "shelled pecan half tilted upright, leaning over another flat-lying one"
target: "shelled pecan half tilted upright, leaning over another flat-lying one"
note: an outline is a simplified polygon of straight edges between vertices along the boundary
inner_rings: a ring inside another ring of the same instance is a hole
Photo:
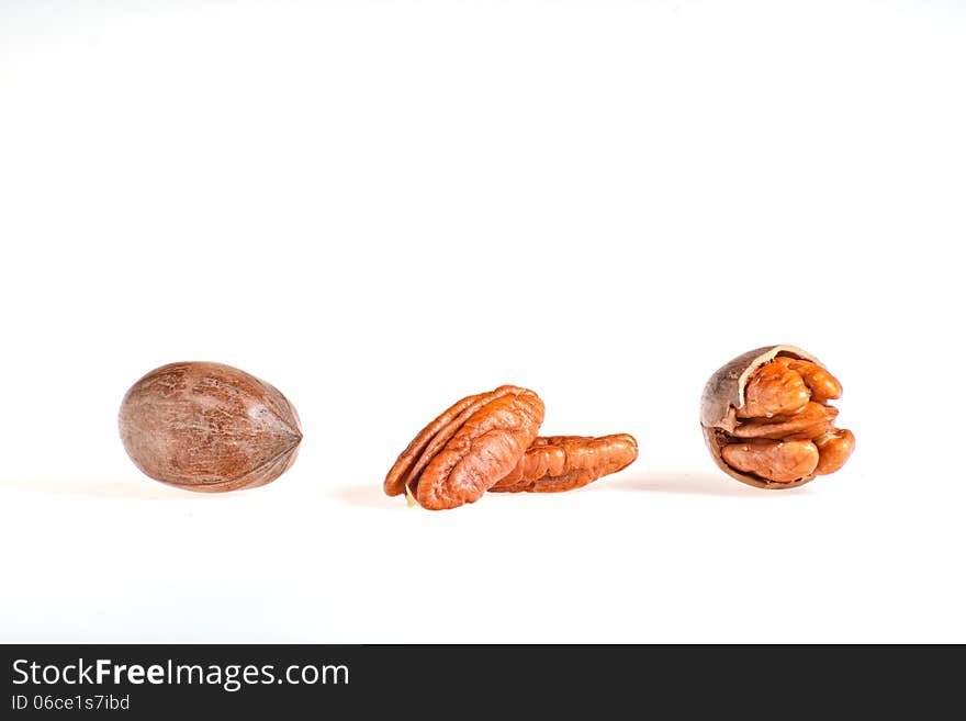
[[[474,503],[516,467],[541,423],[543,402],[532,391],[503,385],[468,396],[400,454],[385,493],[408,493],[431,510]]]

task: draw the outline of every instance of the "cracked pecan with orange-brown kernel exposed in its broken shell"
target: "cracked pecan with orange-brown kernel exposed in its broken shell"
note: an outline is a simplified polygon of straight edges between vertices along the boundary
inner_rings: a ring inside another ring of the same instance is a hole
[[[841,469],[855,447],[834,427],[828,402],[842,385],[793,346],[759,348],[715,373],[701,397],[705,440],[729,475],[764,488],[789,488]]]

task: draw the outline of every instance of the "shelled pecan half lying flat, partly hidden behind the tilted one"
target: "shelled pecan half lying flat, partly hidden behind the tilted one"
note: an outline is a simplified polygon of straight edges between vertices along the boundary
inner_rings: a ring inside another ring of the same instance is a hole
[[[555,493],[580,488],[627,467],[637,457],[638,443],[627,433],[538,438],[513,472],[490,491]]]

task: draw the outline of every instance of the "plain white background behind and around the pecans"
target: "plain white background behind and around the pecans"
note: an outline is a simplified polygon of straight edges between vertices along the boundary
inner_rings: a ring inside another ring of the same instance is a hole
[[[0,640],[966,641],[966,11],[953,2],[4,2]],[[704,449],[790,342],[857,451]],[[294,467],[141,475],[126,388],[278,385]],[[382,495],[459,397],[631,432],[628,471]]]

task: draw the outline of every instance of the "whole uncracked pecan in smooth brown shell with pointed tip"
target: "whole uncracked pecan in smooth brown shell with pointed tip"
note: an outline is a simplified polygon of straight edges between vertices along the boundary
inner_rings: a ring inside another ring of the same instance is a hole
[[[170,363],[137,381],[119,414],[127,455],[179,488],[223,493],[271,483],[295,461],[302,428],[278,388],[231,365]]]

